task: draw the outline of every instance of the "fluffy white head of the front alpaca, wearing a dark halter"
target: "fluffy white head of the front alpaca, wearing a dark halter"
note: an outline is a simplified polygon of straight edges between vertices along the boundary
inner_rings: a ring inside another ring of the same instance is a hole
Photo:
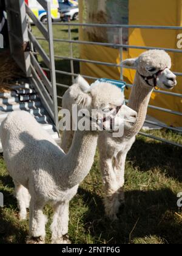
[[[81,76],[78,76],[77,86],[75,103],[79,109],[88,110],[90,116],[92,114],[92,127],[110,130],[112,126],[111,131],[116,131],[120,126],[126,128],[136,123],[137,113],[124,105],[124,93],[120,88],[109,83],[90,86]]]

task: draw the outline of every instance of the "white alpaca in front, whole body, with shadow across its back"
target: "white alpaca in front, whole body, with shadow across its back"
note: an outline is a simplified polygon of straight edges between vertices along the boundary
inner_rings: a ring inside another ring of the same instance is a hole
[[[105,112],[107,108],[114,110],[123,104],[121,91],[104,83],[90,88],[82,77],[78,78],[76,86],[79,93],[75,100],[79,107],[86,108],[89,112],[96,109],[95,119],[110,127],[110,120],[99,118],[101,112]],[[133,115],[133,111],[127,109]],[[108,115],[112,116],[113,111]],[[118,116],[115,118],[117,124],[114,122],[113,130],[118,130],[123,119]],[[98,122],[92,119],[91,123],[92,127],[101,131]],[[30,200],[30,236],[27,243],[44,243],[47,218],[42,210],[47,203],[52,204],[54,209],[52,243],[70,243],[67,237],[69,201],[75,196],[79,183],[92,167],[98,132],[76,131],[72,147],[65,154],[32,115],[19,111],[7,116],[0,133],[4,160],[15,182],[21,219],[26,218],[26,208],[29,207]]]

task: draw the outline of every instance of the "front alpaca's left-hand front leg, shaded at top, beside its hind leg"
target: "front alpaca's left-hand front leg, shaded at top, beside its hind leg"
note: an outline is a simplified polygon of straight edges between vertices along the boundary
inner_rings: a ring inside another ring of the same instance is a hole
[[[43,214],[44,202],[30,201],[29,238],[27,244],[45,243],[45,224],[47,217]]]

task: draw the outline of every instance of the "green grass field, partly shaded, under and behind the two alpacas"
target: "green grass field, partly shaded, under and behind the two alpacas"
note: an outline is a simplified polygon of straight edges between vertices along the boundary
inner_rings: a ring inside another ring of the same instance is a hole
[[[36,28],[33,32],[39,35]],[[78,29],[73,29],[78,38]],[[66,27],[54,27],[56,38],[67,38]],[[45,42],[42,44],[45,45]],[[66,44],[55,43],[55,53],[69,55]],[[79,57],[74,46],[74,57]],[[69,62],[59,60],[56,68],[69,71]],[[79,71],[75,63],[76,71]],[[59,76],[62,84],[70,78]],[[64,82],[62,82],[64,81]],[[62,90],[59,91],[62,93]],[[169,130],[153,131],[153,135],[182,143],[181,135]],[[96,154],[90,174],[79,187],[70,204],[69,235],[72,243],[182,243],[182,213],[177,208],[177,193],[182,191],[182,149],[138,136],[126,161],[126,208],[120,219],[110,222],[104,216],[103,189]],[[28,221],[18,220],[18,208],[13,197],[13,183],[0,157],[0,191],[4,208],[0,208],[0,243],[25,243]],[[47,243],[50,242],[49,216]]]

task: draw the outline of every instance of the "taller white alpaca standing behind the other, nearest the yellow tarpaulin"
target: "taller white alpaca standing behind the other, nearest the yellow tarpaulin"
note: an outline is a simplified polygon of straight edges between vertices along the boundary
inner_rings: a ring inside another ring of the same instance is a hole
[[[101,133],[98,138],[99,158],[104,183],[104,206],[110,219],[117,219],[119,208],[124,203],[124,168],[127,152],[135,141],[146,119],[147,107],[153,88],[158,86],[171,89],[176,84],[176,76],[169,70],[171,60],[165,51],[150,50],[136,59],[123,62],[128,68],[136,68],[135,82],[129,98],[128,106],[138,113],[134,126],[124,130],[124,136],[113,138],[109,133]],[[70,108],[75,91],[67,93],[63,99],[63,107]],[[72,98],[72,99],[70,99]],[[73,132],[64,132],[62,148],[66,151],[72,144]],[[141,149],[142,150],[142,149]]]

